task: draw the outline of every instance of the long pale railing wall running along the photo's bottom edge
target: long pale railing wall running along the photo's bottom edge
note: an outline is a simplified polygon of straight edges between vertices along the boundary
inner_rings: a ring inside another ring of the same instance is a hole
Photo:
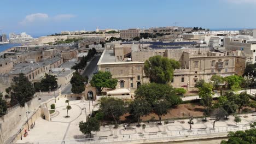
[[[63,141],[35,141],[31,143],[126,143],[126,142],[153,142],[153,141],[168,141],[174,137],[193,137],[196,136],[197,139],[202,136],[210,136],[211,134],[218,133],[228,133],[229,131],[237,130],[247,130],[250,129],[249,124],[237,125],[232,127],[217,127],[206,128],[206,129],[195,129],[195,130],[178,130],[178,131],[164,131],[156,133],[141,133],[141,134],[132,134],[132,135],[116,135],[116,136],[104,136],[104,137],[95,137],[91,139],[75,139],[75,140],[63,140]],[[222,134],[223,135],[223,134]],[[225,135],[225,134],[224,134]]]

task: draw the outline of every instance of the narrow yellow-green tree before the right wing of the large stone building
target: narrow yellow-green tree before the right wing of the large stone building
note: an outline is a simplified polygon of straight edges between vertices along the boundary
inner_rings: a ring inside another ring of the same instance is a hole
[[[212,85],[211,83],[203,83],[202,87],[199,87],[200,103],[205,107],[212,106]]]

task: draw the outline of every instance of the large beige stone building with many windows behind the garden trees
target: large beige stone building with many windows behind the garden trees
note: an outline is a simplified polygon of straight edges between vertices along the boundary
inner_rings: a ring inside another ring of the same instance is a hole
[[[195,48],[193,42],[114,44],[106,49],[98,62],[98,69],[110,71],[118,79],[117,88],[137,88],[142,83],[149,82],[144,74],[144,62],[152,56],[160,55],[175,59],[181,68],[174,70],[171,81],[174,87],[194,87],[195,83],[217,74],[220,76],[234,75],[245,69],[245,57],[237,56],[236,51],[210,51],[209,48]],[[179,45],[179,46],[177,46]],[[241,61],[235,65],[237,58]]]

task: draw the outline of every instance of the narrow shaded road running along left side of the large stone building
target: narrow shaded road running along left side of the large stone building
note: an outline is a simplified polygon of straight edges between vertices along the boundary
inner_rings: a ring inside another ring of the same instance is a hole
[[[90,63],[87,65],[87,67],[85,68],[84,73],[82,74],[83,76],[88,76],[89,80],[91,80],[92,76],[94,75],[94,71],[97,69],[97,63],[98,60],[100,60],[101,56],[95,56]],[[61,90],[62,94],[71,94],[71,88],[72,85],[69,83],[64,89]]]

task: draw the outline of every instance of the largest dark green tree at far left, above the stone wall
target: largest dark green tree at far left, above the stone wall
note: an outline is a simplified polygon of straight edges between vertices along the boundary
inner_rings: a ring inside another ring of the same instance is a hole
[[[19,77],[14,77],[11,84],[11,105],[20,104],[24,107],[27,101],[33,98],[35,93],[34,87],[24,74],[19,74]]]

